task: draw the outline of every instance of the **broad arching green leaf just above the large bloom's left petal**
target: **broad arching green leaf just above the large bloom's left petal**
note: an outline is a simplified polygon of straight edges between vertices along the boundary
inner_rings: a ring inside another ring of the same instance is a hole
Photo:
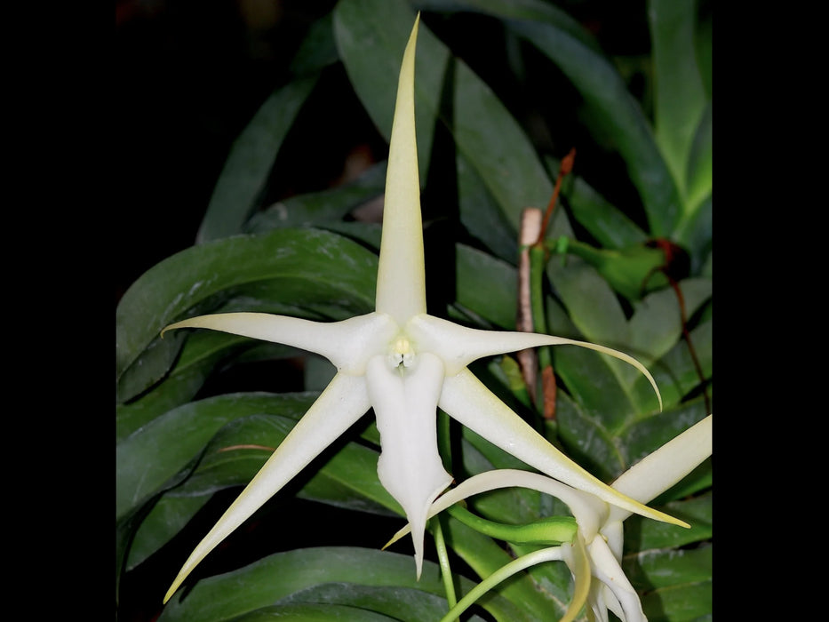
[[[375,254],[316,229],[239,235],[164,259],[132,284],[116,310],[119,400],[170,368],[186,331],[160,339],[168,323],[219,309],[289,315],[316,309],[343,319],[371,311],[376,276]]]

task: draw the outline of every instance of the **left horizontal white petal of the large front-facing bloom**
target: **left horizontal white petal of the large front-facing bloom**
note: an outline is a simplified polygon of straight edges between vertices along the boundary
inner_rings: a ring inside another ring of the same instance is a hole
[[[385,352],[399,328],[379,313],[358,315],[342,322],[312,322],[299,317],[267,313],[221,313],[199,315],[173,323],[162,331],[207,328],[234,335],[299,347],[322,355],[339,370],[363,374],[372,355]]]

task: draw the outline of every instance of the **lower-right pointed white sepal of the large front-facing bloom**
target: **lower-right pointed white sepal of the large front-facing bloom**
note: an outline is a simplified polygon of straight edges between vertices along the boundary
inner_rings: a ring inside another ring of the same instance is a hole
[[[438,405],[453,419],[482,435],[490,443],[550,477],[635,514],[689,527],[686,522],[643,506],[619,493],[578,466],[501,402],[471,371],[460,371],[455,376],[448,376],[443,380]]]

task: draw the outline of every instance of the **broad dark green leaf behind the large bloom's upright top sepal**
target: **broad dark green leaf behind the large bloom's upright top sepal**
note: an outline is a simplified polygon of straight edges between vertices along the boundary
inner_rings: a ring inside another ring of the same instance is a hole
[[[414,18],[415,12],[403,0],[345,0],[335,14],[340,56],[363,106],[384,135],[391,127],[397,76],[396,65],[392,70],[387,64],[397,62],[394,51],[403,49]],[[385,58],[389,53],[395,60]],[[423,138],[427,130],[421,127],[421,118],[425,117],[428,132],[439,119],[458,152],[462,223],[499,257],[514,261],[522,209],[543,208],[552,194],[553,184],[543,164],[490,87],[464,62],[452,59],[422,22],[416,71],[421,179],[426,173],[424,151],[432,144],[431,138]],[[552,229],[556,235],[570,233],[563,212],[556,215]]]

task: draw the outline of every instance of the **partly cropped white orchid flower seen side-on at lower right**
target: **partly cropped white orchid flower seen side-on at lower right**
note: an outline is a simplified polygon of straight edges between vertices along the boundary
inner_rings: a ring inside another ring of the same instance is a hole
[[[631,498],[648,503],[689,474],[712,453],[712,419],[708,415],[629,468],[612,487]],[[439,514],[461,499],[489,490],[530,488],[560,498],[576,518],[578,529],[570,544],[550,546],[522,555],[494,572],[466,594],[443,618],[454,620],[473,602],[516,572],[542,562],[563,561],[575,580],[573,599],[560,622],[570,622],[586,603],[591,620],[608,622],[608,610],[622,622],[647,622],[642,602],[620,565],[622,522],[630,512],[603,499],[577,490],[542,474],[515,469],[497,469],[470,477],[438,498],[427,518]],[[388,542],[389,546],[410,530],[406,525]],[[593,581],[592,577],[599,579]]]

